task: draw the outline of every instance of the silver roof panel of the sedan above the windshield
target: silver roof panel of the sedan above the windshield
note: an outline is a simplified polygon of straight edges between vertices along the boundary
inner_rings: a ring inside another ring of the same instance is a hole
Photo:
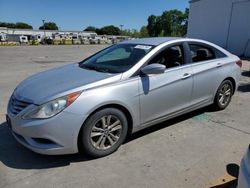
[[[134,40],[127,40],[123,41],[124,44],[144,44],[144,45],[152,45],[152,46],[158,46],[164,42],[169,42],[173,40],[178,40],[182,38],[178,37],[152,37],[152,38],[142,38],[142,39],[134,39]]]

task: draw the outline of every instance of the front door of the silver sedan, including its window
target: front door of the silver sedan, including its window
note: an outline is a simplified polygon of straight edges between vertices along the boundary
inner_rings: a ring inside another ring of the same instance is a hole
[[[164,64],[167,68],[162,74],[140,77],[142,126],[164,120],[190,105],[193,78],[184,50],[182,44],[176,44],[163,49],[148,62]]]

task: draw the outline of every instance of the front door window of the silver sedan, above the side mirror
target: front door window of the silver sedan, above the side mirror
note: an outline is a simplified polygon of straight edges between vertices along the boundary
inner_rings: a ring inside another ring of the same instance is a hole
[[[159,63],[165,65],[166,68],[181,66],[184,64],[183,54],[182,45],[171,46],[156,55],[149,64]]]

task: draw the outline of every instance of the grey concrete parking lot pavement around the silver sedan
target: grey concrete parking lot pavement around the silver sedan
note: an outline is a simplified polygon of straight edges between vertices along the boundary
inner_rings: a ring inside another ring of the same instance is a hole
[[[44,156],[17,143],[5,122],[7,102],[17,84],[104,47],[0,47],[1,188],[201,188],[226,174],[230,164],[240,163],[250,143],[248,61],[243,62],[241,86],[226,110],[204,108],[153,126],[130,136],[110,156]]]

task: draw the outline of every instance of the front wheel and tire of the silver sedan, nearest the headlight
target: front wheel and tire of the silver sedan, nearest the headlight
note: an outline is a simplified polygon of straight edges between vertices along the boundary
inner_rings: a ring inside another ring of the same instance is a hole
[[[81,129],[81,150],[91,157],[104,157],[115,152],[125,141],[128,121],[123,112],[106,108],[90,116]]]

